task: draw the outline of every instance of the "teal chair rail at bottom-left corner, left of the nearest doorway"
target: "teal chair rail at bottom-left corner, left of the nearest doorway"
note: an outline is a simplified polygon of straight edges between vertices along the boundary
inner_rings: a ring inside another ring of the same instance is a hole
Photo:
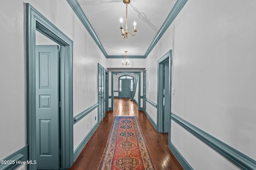
[[[0,163],[0,170],[15,170],[18,168],[21,163],[20,161],[26,161],[28,160],[28,145],[24,146],[23,148],[17,150],[16,152],[10,154],[6,158],[2,160],[8,160],[8,161],[13,161],[12,163],[14,164],[2,164]],[[34,160],[32,160],[34,161]],[[18,162],[18,164],[16,164]],[[7,162],[6,162],[7,163]]]

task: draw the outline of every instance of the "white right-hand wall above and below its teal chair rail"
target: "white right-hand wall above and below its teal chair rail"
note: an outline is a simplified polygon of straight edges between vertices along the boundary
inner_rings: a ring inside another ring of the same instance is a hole
[[[156,101],[157,59],[172,49],[171,111],[254,159],[255,8],[254,0],[188,1],[146,59],[147,98]],[[194,169],[234,169],[179,125],[171,134]]]

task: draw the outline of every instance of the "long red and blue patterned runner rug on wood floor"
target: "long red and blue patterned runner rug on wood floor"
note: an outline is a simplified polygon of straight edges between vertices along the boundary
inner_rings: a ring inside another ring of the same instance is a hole
[[[98,170],[155,170],[135,116],[116,116]]]

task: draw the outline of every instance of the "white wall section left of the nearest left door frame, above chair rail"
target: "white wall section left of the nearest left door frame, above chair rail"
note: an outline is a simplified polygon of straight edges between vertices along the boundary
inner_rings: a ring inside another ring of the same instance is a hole
[[[14,13],[15,11],[15,13]],[[0,160],[26,145],[26,30],[20,2],[0,6]]]

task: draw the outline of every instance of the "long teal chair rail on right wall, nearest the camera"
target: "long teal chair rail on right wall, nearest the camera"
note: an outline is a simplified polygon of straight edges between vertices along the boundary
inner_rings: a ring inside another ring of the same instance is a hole
[[[220,141],[216,137],[206,133],[202,129],[199,129],[198,127],[192,125],[188,121],[185,121],[173,113],[171,115],[171,119],[189,131],[192,135],[200,139],[206,145],[214,149],[216,152],[224,156],[224,158],[238,166],[238,168],[242,170],[256,170],[256,160],[250,158],[246,154],[236,150],[235,148]]]

